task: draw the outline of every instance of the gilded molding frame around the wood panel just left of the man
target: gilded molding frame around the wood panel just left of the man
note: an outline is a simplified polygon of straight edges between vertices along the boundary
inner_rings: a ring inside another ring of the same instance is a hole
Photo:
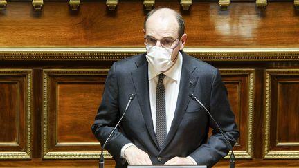
[[[51,70],[44,70],[44,106],[43,106],[43,114],[42,114],[42,158],[44,159],[94,159],[100,157],[100,151],[94,150],[94,151],[51,151],[51,143],[55,141],[56,146],[61,147],[75,147],[78,145],[82,146],[91,146],[96,147],[100,146],[99,142],[56,142],[56,140],[51,139],[51,127],[53,126],[53,123],[51,124],[51,116],[53,117],[53,113],[50,111],[50,97],[51,95],[51,78],[53,76],[69,76],[73,77],[75,75],[77,76],[98,76],[98,75],[107,75],[108,69],[51,69]],[[103,81],[104,83],[105,81]],[[53,112],[53,111],[52,111]],[[57,109],[55,110],[54,116],[57,117]],[[56,123],[57,124],[57,123]],[[57,131],[57,130],[56,130]],[[56,133],[56,132],[55,132]],[[112,156],[105,151],[104,152],[105,158],[112,158]]]

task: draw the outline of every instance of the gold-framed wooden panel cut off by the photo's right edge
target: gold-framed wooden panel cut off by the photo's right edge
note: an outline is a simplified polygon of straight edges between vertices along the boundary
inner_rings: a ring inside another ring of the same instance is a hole
[[[299,69],[266,70],[266,158],[290,158],[299,150]],[[293,102],[293,103],[290,103]]]

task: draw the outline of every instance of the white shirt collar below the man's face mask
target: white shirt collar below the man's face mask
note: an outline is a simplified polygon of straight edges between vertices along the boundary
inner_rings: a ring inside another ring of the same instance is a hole
[[[183,64],[183,56],[182,56],[181,52],[179,52],[178,56],[177,56],[177,60],[174,63],[174,65],[168,71],[166,71],[164,74],[167,77],[170,77],[170,78],[172,78],[172,80],[175,80],[177,82],[181,75],[182,64]],[[149,68],[149,71],[148,71],[149,80],[152,80],[154,77],[158,76],[161,73],[159,71],[156,71],[154,66],[152,66],[151,64],[149,64],[148,68]]]

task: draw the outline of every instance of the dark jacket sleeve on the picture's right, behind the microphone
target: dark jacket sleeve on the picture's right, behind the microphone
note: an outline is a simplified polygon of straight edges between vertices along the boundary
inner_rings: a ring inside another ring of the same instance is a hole
[[[224,83],[221,81],[219,71],[215,71],[212,78],[212,89],[210,94],[210,113],[215,118],[219,127],[224,131],[230,144],[233,145],[239,138],[237,124],[235,123],[235,115],[230,109],[228,102],[227,90]],[[209,116],[209,126],[212,128],[212,136],[208,138],[206,144],[202,144],[194,152],[190,154],[198,165],[207,165],[212,167],[221,158],[227,155],[230,147],[226,144],[226,140],[217,129],[215,122]]]

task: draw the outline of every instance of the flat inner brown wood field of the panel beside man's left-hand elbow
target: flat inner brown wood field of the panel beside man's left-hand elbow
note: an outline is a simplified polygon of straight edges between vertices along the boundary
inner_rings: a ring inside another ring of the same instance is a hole
[[[98,142],[91,133],[104,82],[57,82],[57,144]]]

